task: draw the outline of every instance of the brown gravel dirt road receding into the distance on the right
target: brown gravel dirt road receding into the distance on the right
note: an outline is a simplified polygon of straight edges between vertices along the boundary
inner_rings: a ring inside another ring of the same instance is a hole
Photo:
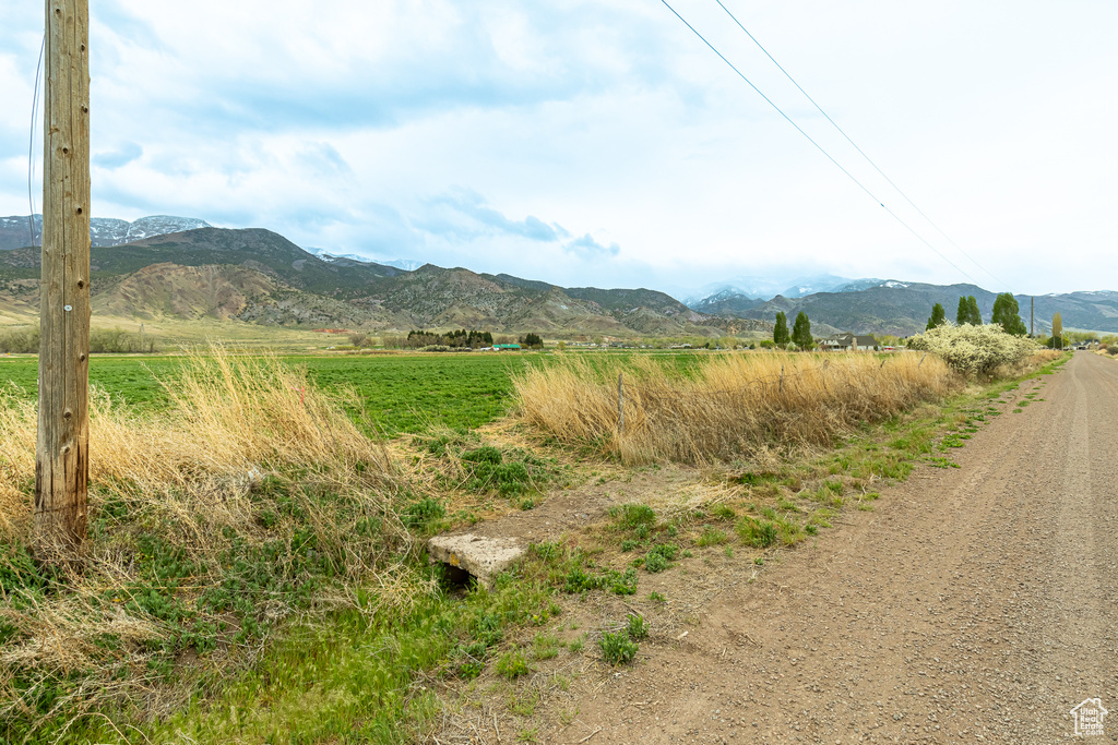
[[[1118,362],[1079,353],[874,513],[727,590],[547,742],[1118,741]],[[542,733],[541,733],[542,734]]]

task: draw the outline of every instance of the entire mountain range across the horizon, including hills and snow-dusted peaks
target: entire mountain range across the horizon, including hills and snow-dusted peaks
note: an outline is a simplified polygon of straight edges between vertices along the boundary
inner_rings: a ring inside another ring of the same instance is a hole
[[[31,235],[27,217],[0,218],[0,323],[37,313],[39,249],[26,248]],[[91,237],[94,313],[138,319],[214,317],[402,333],[472,327],[552,336],[720,336],[764,334],[777,312],[790,322],[803,311],[817,336],[906,336],[923,329],[935,303],[953,318],[958,298],[974,295],[988,318],[996,297],[969,284],[821,275],[797,278],[769,299],[758,292],[766,283],[747,278],[712,285],[713,292],[684,304],[651,289],[558,287],[414,261],[378,264],[304,250],[265,229],[214,228],[192,218],[94,219]],[[1026,326],[1031,299],[1017,296]],[[1051,327],[1055,312],[1064,328],[1118,332],[1118,293],[1038,296],[1038,333]]]

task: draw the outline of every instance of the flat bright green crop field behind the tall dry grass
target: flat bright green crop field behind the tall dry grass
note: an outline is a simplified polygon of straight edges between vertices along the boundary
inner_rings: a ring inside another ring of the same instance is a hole
[[[539,364],[540,354],[293,355],[285,363],[306,370],[328,391],[351,389],[362,402],[352,412],[362,426],[389,437],[432,427],[479,427],[502,417],[511,374]],[[92,356],[89,383],[114,400],[146,410],[167,404],[159,380],[173,380],[178,356]],[[38,360],[0,357],[0,384],[9,381],[36,395]]]

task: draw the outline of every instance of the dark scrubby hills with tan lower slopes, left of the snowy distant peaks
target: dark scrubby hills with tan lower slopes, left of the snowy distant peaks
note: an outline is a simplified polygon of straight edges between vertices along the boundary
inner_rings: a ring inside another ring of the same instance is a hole
[[[32,309],[39,250],[0,252],[0,306]],[[198,228],[91,251],[94,313],[235,318],[390,332],[720,336],[767,325],[717,318],[648,289],[565,289],[509,275],[424,265],[413,271],[314,255],[264,229]],[[7,283],[7,284],[6,284]],[[9,288],[7,298],[4,287]]]

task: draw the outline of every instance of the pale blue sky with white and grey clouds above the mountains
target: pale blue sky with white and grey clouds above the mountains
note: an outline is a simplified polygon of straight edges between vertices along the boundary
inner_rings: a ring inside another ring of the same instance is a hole
[[[718,0],[669,2],[850,175],[661,0],[91,0],[93,214],[676,295],[1118,289],[1118,3],[722,0],[929,223]],[[6,2],[0,216],[41,34]]]

